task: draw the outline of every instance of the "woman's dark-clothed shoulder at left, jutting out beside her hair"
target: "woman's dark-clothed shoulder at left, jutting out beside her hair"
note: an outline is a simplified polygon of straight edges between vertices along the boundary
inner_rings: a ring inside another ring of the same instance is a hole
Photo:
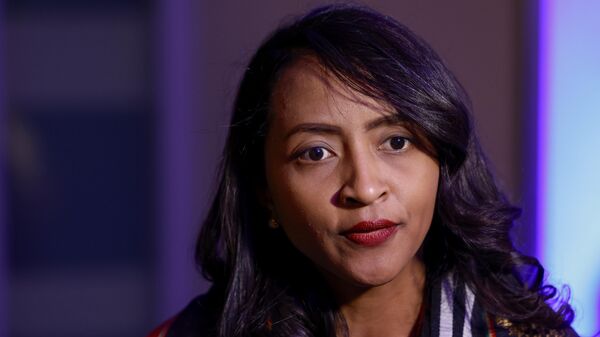
[[[213,294],[194,298],[175,317],[154,329],[147,337],[212,336],[217,321]]]

